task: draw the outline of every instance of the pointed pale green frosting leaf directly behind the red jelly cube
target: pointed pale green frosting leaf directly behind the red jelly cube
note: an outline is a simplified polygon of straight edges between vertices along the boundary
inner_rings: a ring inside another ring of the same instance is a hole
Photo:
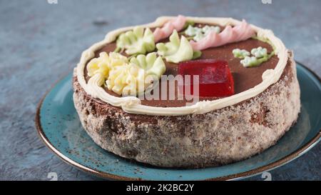
[[[185,36],[179,38],[177,31],[173,31],[170,35],[168,43],[156,44],[158,55],[165,57],[168,62],[179,63],[180,61],[187,61],[193,57],[199,57],[200,51],[193,51],[192,46]],[[194,55],[195,54],[195,55]]]

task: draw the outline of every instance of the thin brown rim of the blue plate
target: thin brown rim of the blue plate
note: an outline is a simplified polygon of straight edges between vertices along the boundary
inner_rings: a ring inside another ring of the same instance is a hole
[[[314,71],[312,71],[311,69],[307,68],[307,66],[303,65],[302,63],[300,63],[300,61],[295,61],[297,64],[300,64],[299,66],[302,66],[304,69],[306,69],[307,71],[309,71],[313,76],[315,76],[315,78],[320,82],[321,84],[321,79],[320,77],[315,74]],[[70,74],[70,73],[69,73]],[[64,162],[66,162],[67,164],[76,167],[77,169],[80,169],[81,171],[85,171],[88,174],[93,174],[95,176],[98,176],[100,178],[103,179],[113,179],[113,180],[126,180],[126,181],[137,181],[137,180],[145,180],[145,179],[141,179],[140,177],[126,177],[126,176],[119,176],[116,174],[109,174],[103,171],[98,171],[96,169],[92,169],[89,168],[87,166],[84,166],[83,164],[80,164],[76,161],[73,161],[72,159],[69,159],[67,156],[63,155],[61,153],[61,151],[59,151],[58,149],[55,148],[55,146],[53,144],[51,144],[51,141],[49,141],[49,139],[47,138],[46,134],[44,133],[44,130],[42,129],[41,126],[41,116],[40,116],[40,111],[41,111],[41,106],[44,102],[44,99],[46,99],[46,96],[49,94],[49,92],[54,89],[54,87],[56,86],[56,84],[58,84],[59,81],[62,81],[63,79],[66,79],[66,76],[63,76],[61,79],[59,79],[58,81],[56,81],[53,86],[51,86],[51,88],[46,91],[46,94],[44,94],[44,96],[41,97],[41,100],[39,101],[39,104],[36,108],[36,116],[35,116],[35,125],[36,125],[36,130],[37,133],[41,139],[41,141],[45,144],[45,146],[47,146],[51,151],[54,152],[54,154],[56,154],[56,156],[59,157],[59,159],[63,160]],[[249,176],[255,176],[258,175],[260,173],[263,173],[264,171],[270,171],[272,169],[276,169],[277,167],[283,166],[287,163],[289,163],[292,160],[297,159],[298,157],[302,156],[302,154],[305,154],[305,152],[309,151],[310,149],[312,149],[313,146],[315,146],[319,141],[321,140],[321,129],[319,130],[319,133],[317,133],[316,136],[314,136],[312,139],[310,139],[310,141],[307,142],[307,144],[303,145],[300,147],[300,149],[297,149],[296,151],[293,151],[291,154],[284,156],[282,159],[279,159],[277,161],[274,161],[270,164],[267,164],[265,166],[260,166],[258,168],[255,169],[251,169],[249,171],[245,171],[245,172],[241,172],[238,174],[230,174],[228,176],[220,176],[220,177],[214,177],[214,178],[209,178],[209,179],[203,179],[205,181],[220,181],[220,180],[238,180],[238,179],[245,179]]]

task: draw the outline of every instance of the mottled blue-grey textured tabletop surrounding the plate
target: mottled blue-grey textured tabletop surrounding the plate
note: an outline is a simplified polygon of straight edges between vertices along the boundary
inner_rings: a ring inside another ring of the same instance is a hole
[[[134,5],[134,2],[138,2]],[[133,11],[133,6],[136,11]],[[272,29],[295,59],[321,75],[321,1],[42,1],[0,0],[0,180],[96,180],[63,163],[40,141],[36,105],[81,51],[121,26],[161,15],[230,16]],[[273,180],[320,180],[321,144],[270,171]],[[263,180],[260,176],[250,180]]]

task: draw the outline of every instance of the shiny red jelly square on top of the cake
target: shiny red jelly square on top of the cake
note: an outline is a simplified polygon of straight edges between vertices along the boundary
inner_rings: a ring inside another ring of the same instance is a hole
[[[183,75],[184,78],[190,75],[190,84],[185,84],[184,79],[183,86],[185,89],[190,86],[191,91],[194,88],[193,75],[199,76],[199,96],[224,97],[234,94],[233,76],[227,61],[215,59],[185,61],[178,64],[178,74]],[[183,86],[178,87],[183,89]],[[182,90],[179,91],[182,92]]]

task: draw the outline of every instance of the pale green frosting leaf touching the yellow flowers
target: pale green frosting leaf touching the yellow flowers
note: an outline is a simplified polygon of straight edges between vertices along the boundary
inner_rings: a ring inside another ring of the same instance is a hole
[[[157,57],[156,52],[147,55],[140,54],[131,58],[130,62],[145,70],[146,76],[153,75],[160,79],[166,71],[166,66],[163,59],[161,56]]]

